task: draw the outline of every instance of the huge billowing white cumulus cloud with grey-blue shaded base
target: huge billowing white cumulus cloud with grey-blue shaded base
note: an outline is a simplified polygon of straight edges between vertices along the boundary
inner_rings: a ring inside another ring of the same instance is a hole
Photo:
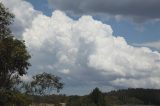
[[[123,37],[113,36],[110,25],[91,16],[74,20],[56,10],[48,17],[27,2],[11,1],[5,5],[22,3],[23,8],[27,4],[32,10],[28,18],[21,18],[25,12],[20,13],[18,6],[11,7],[17,16],[15,27],[21,21],[25,23],[21,37],[32,54],[29,75],[47,71],[61,76],[65,93],[82,94],[96,86],[104,90],[160,87],[159,52],[127,44]]]

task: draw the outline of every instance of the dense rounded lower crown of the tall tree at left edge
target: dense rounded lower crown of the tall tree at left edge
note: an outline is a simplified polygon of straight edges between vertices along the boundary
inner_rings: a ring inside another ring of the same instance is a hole
[[[23,41],[7,37],[0,41],[0,88],[10,89],[26,74],[29,53]]]

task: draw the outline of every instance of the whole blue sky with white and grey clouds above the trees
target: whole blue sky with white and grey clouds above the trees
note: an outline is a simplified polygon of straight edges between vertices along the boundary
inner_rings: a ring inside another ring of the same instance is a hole
[[[67,95],[160,88],[159,0],[0,1],[32,56],[23,80],[55,74]]]

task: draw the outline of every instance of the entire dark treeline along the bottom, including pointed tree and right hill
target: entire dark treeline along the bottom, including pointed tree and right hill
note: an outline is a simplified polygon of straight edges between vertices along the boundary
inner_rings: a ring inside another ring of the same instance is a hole
[[[50,95],[35,96],[36,103],[67,103],[67,106],[114,106],[114,105],[157,105],[160,106],[160,90],[125,89],[102,93],[95,88],[85,96]]]

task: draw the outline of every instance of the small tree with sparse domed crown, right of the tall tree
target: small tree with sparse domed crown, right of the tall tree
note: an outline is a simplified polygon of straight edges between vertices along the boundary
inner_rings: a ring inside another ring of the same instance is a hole
[[[33,81],[25,84],[26,93],[34,95],[47,95],[53,90],[59,92],[63,88],[63,83],[60,82],[60,77],[53,74],[42,73],[33,76]]]

